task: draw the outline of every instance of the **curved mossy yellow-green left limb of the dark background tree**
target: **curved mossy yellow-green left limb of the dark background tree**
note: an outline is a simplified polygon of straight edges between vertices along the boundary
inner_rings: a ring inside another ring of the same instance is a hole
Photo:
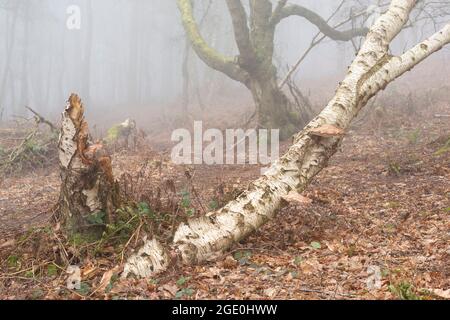
[[[246,83],[248,74],[242,70],[231,57],[226,57],[211,48],[200,34],[198,25],[194,18],[191,0],[177,0],[178,9],[181,13],[183,27],[192,44],[192,48],[209,67],[220,71],[231,79]]]

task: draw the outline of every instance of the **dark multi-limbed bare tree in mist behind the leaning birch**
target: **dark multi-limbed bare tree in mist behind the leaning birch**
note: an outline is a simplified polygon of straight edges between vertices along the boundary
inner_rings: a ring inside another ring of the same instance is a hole
[[[278,24],[289,17],[303,17],[336,41],[349,41],[367,33],[366,28],[337,30],[317,13],[300,5],[287,5],[285,0],[279,1],[275,8],[269,0],[250,1],[249,13],[240,0],[227,0],[239,55],[226,57],[201,36],[192,3],[191,0],[178,0],[184,28],[197,55],[211,68],[243,83],[252,93],[258,124],[265,128],[282,128],[284,137],[305,125],[309,115],[305,117],[301,110],[296,112],[293,103],[278,86],[278,72],[273,63]]]

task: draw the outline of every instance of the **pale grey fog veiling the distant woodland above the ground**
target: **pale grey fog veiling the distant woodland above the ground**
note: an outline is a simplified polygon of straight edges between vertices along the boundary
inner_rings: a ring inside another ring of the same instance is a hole
[[[235,55],[229,14],[222,0],[197,1],[202,34],[220,52]],[[246,1],[244,1],[246,2]],[[328,17],[335,0],[291,1]],[[376,1],[359,1],[367,4]],[[79,29],[67,27],[71,6],[80,8]],[[348,11],[347,11],[348,12]],[[338,23],[344,16],[333,19]],[[392,48],[400,53],[430,35],[437,26],[418,23],[403,32]],[[282,22],[276,35],[279,76],[309,46],[317,29],[304,19]],[[24,106],[57,119],[71,92],[81,95],[88,112],[116,121],[129,114],[155,118],[177,112],[183,93],[185,36],[175,0],[1,0],[0,108],[3,119],[26,113]],[[320,96],[333,88],[354,57],[352,43],[326,40],[307,57],[296,74],[304,90]],[[422,70],[448,81],[448,50],[427,61]],[[191,104],[207,108],[251,104],[247,90],[189,55]],[[422,74],[423,76],[423,74]],[[414,77],[414,74],[410,76]],[[417,77],[417,75],[416,75]],[[138,118],[139,120],[139,118]],[[142,119],[141,119],[142,120]]]

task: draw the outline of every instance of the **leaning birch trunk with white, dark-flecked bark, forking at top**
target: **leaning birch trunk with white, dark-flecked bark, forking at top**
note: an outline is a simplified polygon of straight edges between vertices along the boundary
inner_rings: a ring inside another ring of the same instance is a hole
[[[429,39],[399,57],[388,54],[389,44],[406,24],[416,0],[393,0],[388,11],[372,26],[367,38],[325,109],[294,138],[293,145],[271,168],[237,199],[224,208],[179,226],[174,242],[166,252],[155,242],[133,255],[126,274],[148,277],[150,270],[164,270],[169,257],[185,264],[199,263],[222,255],[238,242],[276,216],[289,193],[300,193],[337,151],[341,134],[317,134],[321,128],[347,129],[369,99],[390,82],[412,69],[450,42],[450,23]],[[170,252],[168,254],[167,252]],[[155,261],[157,264],[155,265]]]

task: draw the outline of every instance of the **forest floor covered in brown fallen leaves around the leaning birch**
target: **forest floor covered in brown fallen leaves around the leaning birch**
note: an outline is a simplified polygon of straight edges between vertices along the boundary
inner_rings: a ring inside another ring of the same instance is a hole
[[[72,261],[82,272],[77,291],[66,288],[66,266],[54,258],[79,249],[49,222],[58,200],[57,165],[6,175],[0,180],[0,299],[450,298],[450,118],[427,114],[399,113],[353,127],[304,192],[310,203],[282,209],[217,261],[122,280],[114,269],[120,259],[107,247],[100,257]],[[144,163],[155,168],[149,185],[139,182],[129,192],[146,194],[153,205],[163,185],[166,193],[176,190],[177,202],[188,190],[183,208],[194,214],[225,203],[260,170],[177,167],[167,152],[149,148],[113,155],[116,177]],[[36,230],[45,232],[36,238]]]

